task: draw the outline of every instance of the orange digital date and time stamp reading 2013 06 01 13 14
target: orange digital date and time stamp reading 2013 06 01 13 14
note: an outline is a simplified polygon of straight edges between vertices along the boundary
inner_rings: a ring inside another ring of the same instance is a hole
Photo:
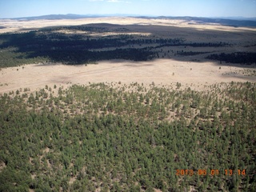
[[[219,170],[176,170],[177,176],[193,176],[194,174],[198,175],[219,175],[221,172]],[[232,174],[238,174],[238,175],[246,175],[246,170],[224,170],[222,173],[224,175],[232,175]]]

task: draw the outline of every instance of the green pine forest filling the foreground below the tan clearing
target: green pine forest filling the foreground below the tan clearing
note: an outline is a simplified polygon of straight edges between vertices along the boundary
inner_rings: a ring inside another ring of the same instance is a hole
[[[256,191],[256,84],[45,86],[0,98],[0,191]]]

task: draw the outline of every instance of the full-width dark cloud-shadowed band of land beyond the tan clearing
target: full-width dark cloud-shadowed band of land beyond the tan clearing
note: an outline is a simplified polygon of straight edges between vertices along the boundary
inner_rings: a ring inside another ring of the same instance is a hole
[[[146,33],[150,35],[143,35]],[[8,53],[8,49],[14,47],[15,50],[10,51],[14,55],[10,57],[24,62],[34,59],[78,65],[112,59],[139,62],[171,58],[182,62],[213,61],[219,66],[239,63],[246,67],[255,66],[255,34],[254,30],[238,28],[97,23],[1,34],[0,49]],[[235,47],[242,51],[234,51]]]

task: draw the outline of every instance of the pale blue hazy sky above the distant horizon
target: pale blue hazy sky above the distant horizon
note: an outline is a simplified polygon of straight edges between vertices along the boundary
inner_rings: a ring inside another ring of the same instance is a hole
[[[45,14],[256,18],[256,0],[0,0],[0,18]]]

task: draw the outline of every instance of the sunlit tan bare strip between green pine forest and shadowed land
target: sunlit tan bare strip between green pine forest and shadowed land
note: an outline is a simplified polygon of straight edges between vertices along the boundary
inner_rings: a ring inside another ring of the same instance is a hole
[[[181,82],[183,86],[203,90],[205,85],[219,82],[256,82],[248,76],[254,68],[219,66],[214,62],[180,62],[158,59],[150,62],[122,60],[102,61],[97,65],[66,66],[62,64],[31,64],[10,67],[0,71],[0,93],[30,88],[31,91],[47,86],[86,85],[89,82],[140,82],[150,85],[170,85]],[[247,71],[247,72],[245,72]]]

